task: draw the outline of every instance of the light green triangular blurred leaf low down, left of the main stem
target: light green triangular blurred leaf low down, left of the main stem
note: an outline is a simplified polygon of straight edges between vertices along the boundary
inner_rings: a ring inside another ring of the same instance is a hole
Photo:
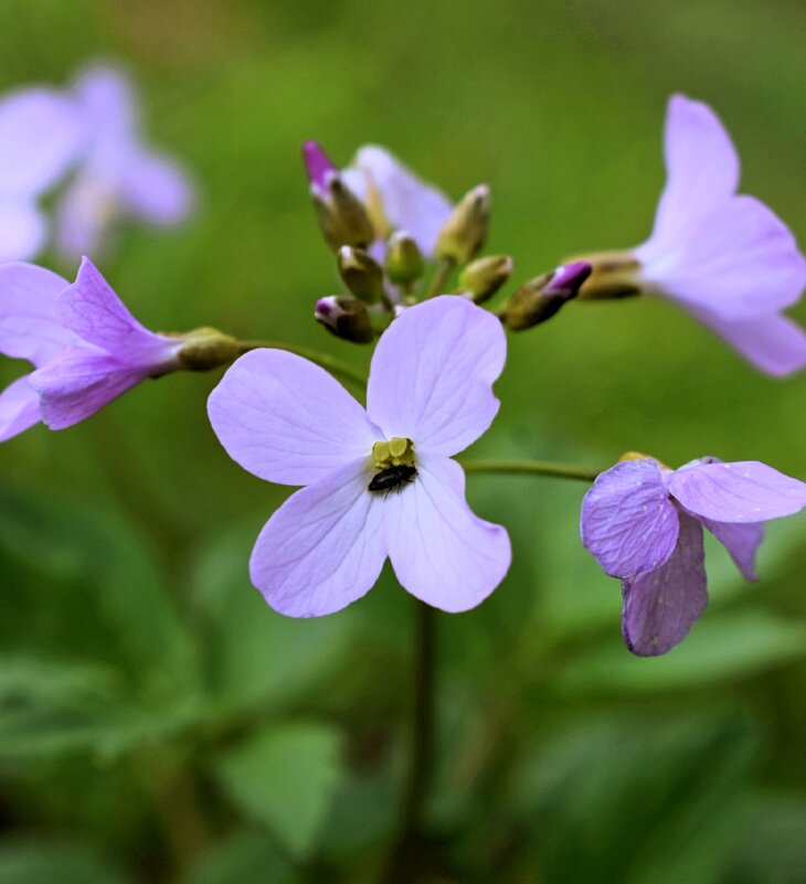
[[[246,814],[299,858],[316,845],[343,778],[341,735],[320,723],[267,727],[219,761],[219,776]]]

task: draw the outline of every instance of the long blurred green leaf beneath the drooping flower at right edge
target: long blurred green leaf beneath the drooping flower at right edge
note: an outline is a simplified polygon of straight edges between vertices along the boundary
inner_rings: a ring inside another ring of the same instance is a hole
[[[806,624],[765,610],[709,611],[683,641],[662,657],[629,653],[617,635],[579,656],[554,682],[560,691],[658,693],[704,688],[755,675],[806,654]]]

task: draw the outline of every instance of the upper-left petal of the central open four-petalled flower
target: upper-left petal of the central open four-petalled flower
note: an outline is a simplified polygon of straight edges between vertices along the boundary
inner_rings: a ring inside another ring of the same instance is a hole
[[[361,457],[369,466],[381,438],[338,381],[283,350],[241,356],[210,394],[208,413],[233,460],[282,484],[310,484]]]

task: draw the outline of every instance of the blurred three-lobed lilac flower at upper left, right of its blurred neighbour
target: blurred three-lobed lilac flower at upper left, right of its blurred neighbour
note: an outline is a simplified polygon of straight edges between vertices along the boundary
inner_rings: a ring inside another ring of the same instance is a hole
[[[59,205],[61,252],[75,258],[97,254],[124,217],[153,225],[183,221],[192,206],[192,188],[173,160],[140,140],[137,100],[126,76],[114,67],[91,67],[73,92],[87,143]]]

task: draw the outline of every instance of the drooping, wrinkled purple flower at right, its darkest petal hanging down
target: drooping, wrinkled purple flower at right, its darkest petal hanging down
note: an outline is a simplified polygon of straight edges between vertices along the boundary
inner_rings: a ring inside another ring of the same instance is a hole
[[[804,482],[755,460],[706,457],[671,470],[640,458],[598,476],[582,502],[582,543],[606,574],[622,579],[629,650],[666,653],[702,614],[702,525],[754,581],[762,523],[804,507]]]

